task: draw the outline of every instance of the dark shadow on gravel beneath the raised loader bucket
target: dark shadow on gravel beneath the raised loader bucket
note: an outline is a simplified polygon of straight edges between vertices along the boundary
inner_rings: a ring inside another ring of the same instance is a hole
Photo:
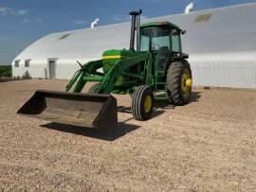
[[[130,119],[128,119],[130,120]],[[127,120],[127,121],[128,121]],[[78,134],[82,136],[88,136],[96,139],[101,139],[105,141],[115,141],[125,134],[136,131],[139,126],[131,125],[124,122],[119,122],[117,128],[109,128],[109,129],[95,129],[95,128],[86,128],[79,126],[66,125],[61,123],[48,123],[46,125],[41,125],[46,129],[56,130],[56,131],[64,131],[73,134]]]

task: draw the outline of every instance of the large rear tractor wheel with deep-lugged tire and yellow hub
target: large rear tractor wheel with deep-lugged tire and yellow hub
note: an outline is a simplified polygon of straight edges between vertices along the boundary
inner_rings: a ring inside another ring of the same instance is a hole
[[[174,105],[185,105],[192,93],[192,70],[188,61],[174,61],[167,72],[169,100]]]

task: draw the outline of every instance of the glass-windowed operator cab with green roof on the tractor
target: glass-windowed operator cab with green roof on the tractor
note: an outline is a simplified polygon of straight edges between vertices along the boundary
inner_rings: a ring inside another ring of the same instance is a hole
[[[171,59],[188,55],[182,53],[181,34],[185,31],[172,23],[152,22],[140,26],[140,51],[153,54],[155,70],[165,71]]]

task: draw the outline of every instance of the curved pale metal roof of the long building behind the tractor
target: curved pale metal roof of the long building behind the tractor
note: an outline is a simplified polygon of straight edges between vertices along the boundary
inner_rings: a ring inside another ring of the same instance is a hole
[[[142,21],[168,21],[187,30],[183,49],[190,54],[255,50],[256,4],[193,11]],[[130,23],[57,32],[29,45],[15,60],[99,58],[104,50],[128,48]]]

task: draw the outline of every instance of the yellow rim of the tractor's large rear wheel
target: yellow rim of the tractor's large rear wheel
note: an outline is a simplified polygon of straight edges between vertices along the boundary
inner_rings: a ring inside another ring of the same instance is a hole
[[[192,76],[188,68],[185,68],[181,76],[181,92],[184,97],[188,97],[192,91]]]

